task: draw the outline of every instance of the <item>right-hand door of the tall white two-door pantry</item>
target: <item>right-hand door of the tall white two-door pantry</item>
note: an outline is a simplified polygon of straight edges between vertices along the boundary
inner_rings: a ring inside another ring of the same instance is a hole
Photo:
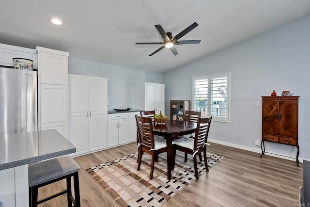
[[[108,79],[89,77],[89,150],[108,147]]]

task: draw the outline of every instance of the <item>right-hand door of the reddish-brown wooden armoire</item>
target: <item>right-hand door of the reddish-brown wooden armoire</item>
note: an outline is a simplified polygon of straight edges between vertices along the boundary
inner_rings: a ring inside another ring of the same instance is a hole
[[[297,100],[280,100],[279,135],[297,137]]]

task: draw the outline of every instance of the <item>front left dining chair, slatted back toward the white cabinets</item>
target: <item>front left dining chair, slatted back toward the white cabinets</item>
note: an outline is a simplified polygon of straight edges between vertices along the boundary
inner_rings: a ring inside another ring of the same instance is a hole
[[[136,115],[137,130],[138,130],[138,167],[140,170],[143,152],[152,156],[150,180],[153,178],[154,164],[156,157],[163,152],[167,152],[166,139],[155,137],[153,133],[153,123],[151,117],[140,117]]]

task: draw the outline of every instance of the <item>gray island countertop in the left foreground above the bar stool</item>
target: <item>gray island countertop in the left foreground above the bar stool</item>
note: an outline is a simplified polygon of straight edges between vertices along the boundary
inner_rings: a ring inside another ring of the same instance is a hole
[[[75,153],[56,129],[0,136],[0,170]]]

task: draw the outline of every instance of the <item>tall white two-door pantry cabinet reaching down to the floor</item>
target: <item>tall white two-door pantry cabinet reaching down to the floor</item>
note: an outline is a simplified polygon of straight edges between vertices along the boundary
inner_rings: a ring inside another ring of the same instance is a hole
[[[69,140],[74,155],[108,147],[108,79],[69,75]]]

